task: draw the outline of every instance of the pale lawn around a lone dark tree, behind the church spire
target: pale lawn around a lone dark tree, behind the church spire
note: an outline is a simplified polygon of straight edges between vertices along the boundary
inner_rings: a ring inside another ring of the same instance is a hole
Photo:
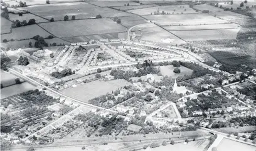
[[[179,69],[181,70],[181,73],[176,74],[173,72],[174,68],[176,68],[176,67],[173,67],[173,65],[161,66],[160,71],[163,76],[169,76],[169,77],[179,77],[179,76],[182,77],[184,75],[189,76],[193,72],[193,70],[181,66],[181,67],[179,67]]]

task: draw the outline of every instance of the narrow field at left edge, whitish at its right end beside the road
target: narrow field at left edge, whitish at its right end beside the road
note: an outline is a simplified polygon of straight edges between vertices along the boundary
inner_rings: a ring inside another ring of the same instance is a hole
[[[35,89],[34,85],[29,84],[28,82],[23,82],[22,84],[11,85],[9,87],[4,87],[1,89],[1,99],[10,97],[16,94],[21,94],[27,92],[28,90]]]

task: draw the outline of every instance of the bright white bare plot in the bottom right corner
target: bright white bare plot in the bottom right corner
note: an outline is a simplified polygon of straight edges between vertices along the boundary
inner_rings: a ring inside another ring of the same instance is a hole
[[[254,151],[255,146],[253,145],[247,145],[240,142],[236,142],[234,140],[230,139],[222,139],[220,144],[217,146],[218,151],[227,151],[227,150],[233,150],[233,151],[240,151],[240,150],[246,150],[246,151]]]

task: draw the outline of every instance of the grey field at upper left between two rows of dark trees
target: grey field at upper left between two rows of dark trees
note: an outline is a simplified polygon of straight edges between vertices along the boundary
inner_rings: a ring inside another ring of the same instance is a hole
[[[8,41],[11,39],[30,39],[36,35],[40,35],[41,37],[48,37],[50,34],[41,29],[38,25],[33,24],[29,26],[13,28],[11,34],[3,34],[1,35],[1,39],[7,39]]]

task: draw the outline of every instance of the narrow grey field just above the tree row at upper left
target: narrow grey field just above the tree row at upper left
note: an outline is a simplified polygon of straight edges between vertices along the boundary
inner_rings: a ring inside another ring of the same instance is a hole
[[[36,22],[48,22],[46,19],[43,19],[42,17],[38,17],[38,16],[35,16],[33,14],[23,14],[23,16],[19,16],[18,14],[9,14],[9,19],[11,21],[16,21],[16,20],[19,20],[19,21],[24,21],[26,20],[27,22],[29,21],[29,19],[36,19]]]

